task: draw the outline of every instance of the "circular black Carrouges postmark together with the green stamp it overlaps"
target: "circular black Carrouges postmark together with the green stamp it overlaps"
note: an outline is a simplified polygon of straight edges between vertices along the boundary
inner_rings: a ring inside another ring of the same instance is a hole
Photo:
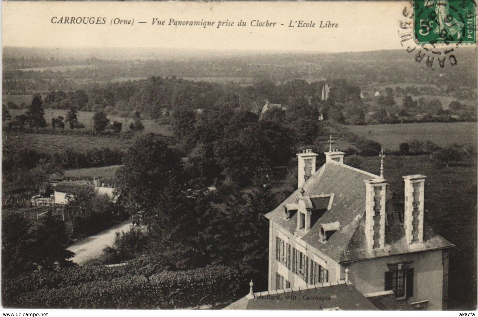
[[[476,45],[475,0],[414,0],[402,16],[400,43],[427,67],[456,66],[456,49]]]

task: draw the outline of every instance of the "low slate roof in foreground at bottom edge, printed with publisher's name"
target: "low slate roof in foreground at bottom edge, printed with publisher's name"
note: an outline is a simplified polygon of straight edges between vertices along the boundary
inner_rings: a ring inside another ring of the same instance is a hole
[[[345,283],[343,280],[307,285],[307,288],[288,288],[255,293],[254,295],[254,298],[242,297],[224,309],[324,310],[338,308],[341,310],[377,310],[377,307],[351,283]]]

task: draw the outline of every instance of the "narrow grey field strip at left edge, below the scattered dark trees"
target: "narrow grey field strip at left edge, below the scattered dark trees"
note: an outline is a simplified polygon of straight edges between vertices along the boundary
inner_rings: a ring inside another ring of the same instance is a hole
[[[87,150],[93,147],[109,147],[122,151],[134,143],[134,138],[122,140],[116,137],[67,136],[48,134],[5,133],[3,141],[12,147],[33,148],[44,153],[53,153],[66,147]]]

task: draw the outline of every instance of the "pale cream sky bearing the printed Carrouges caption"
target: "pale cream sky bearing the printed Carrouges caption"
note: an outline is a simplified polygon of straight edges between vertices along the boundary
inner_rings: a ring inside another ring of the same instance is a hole
[[[217,50],[353,52],[400,49],[399,20],[408,1],[3,1],[2,46],[150,47]],[[105,24],[52,23],[61,17]],[[152,25],[152,19],[166,25]],[[114,24],[119,20],[133,24]],[[212,21],[214,26],[167,25]],[[217,28],[218,21],[234,26]],[[239,27],[242,20],[246,26]],[[252,21],[276,23],[251,26]],[[315,27],[289,27],[312,21]],[[320,28],[320,22],[338,27]],[[139,23],[146,22],[146,23]],[[281,25],[281,23],[283,25]]]

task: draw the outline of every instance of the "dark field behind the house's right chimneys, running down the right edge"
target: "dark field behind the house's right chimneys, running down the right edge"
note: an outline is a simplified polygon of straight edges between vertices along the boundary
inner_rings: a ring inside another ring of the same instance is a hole
[[[476,126],[476,125],[475,125]],[[361,167],[380,173],[379,158],[363,158]],[[449,309],[476,306],[477,247],[477,161],[462,162],[439,169],[428,156],[389,156],[385,158],[387,191],[403,197],[402,176],[423,174],[425,221],[445,239],[455,244],[450,251]],[[392,208],[387,205],[387,208]]]

